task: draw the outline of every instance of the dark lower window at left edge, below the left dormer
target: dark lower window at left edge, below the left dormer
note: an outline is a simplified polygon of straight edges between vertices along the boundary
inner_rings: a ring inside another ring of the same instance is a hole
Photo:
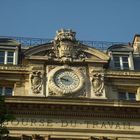
[[[0,87],[0,96],[12,96],[12,87]]]

